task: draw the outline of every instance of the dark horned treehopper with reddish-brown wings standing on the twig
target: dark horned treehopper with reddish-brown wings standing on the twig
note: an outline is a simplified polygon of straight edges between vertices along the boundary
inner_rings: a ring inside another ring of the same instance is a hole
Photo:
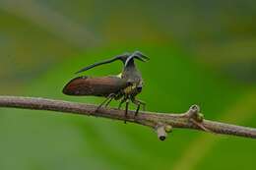
[[[63,88],[63,93],[67,95],[94,95],[105,97],[106,99],[97,107],[99,109],[103,105],[105,107],[113,100],[120,100],[118,109],[123,103],[125,106],[125,117],[127,117],[129,103],[132,102],[137,105],[135,116],[138,115],[140,107],[143,106],[145,110],[146,103],[136,99],[136,95],[142,91],[143,79],[141,73],[137,70],[134,59],[146,62],[149,57],[145,56],[139,51],[134,53],[125,53],[109,60],[101,61],[83,68],[76,74],[88,71],[96,66],[112,63],[120,60],[124,64],[122,73],[118,76],[106,76],[91,78],[87,76],[78,77],[71,80]]]

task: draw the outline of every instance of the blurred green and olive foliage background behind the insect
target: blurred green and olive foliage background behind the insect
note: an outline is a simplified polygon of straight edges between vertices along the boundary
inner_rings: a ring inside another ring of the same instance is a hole
[[[256,127],[253,0],[0,0],[0,94],[70,97],[74,72],[140,50],[148,110],[183,112]],[[85,74],[115,75],[121,63]],[[116,106],[113,102],[112,106]],[[75,115],[0,108],[1,170],[255,169],[256,142],[149,129]]]

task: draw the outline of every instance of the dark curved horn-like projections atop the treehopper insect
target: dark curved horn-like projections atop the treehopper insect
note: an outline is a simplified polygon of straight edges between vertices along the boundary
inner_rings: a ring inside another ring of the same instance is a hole
[[[127,66],[129,66],[130,63],[134,62],[134,60],[133,60],[134,58],[138,59],[140,61],[143,61],[143,62],[146,62],[146,61],[149,60],[149,57],[145,56],[140,51],[135,51],[134,53],[124,53],[122,55],[118,55],[118,56],[116,56],[114,58],[111,58],[109,60],[101,61],[101,62],[95,63],[93,65],[90,65],[88,67],[85,67],[82,70],[76,72],[76,74],[79,74],[79,73],[85,72],[87,70],[93,69],[96,66],[112,63],[112,62],[117,61],[117,60],[121,60],[123,62],[123,64],[125,65],[125,67],[127,67]]]

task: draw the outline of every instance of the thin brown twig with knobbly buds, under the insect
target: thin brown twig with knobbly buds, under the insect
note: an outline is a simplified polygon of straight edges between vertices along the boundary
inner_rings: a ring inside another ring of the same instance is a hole
[[[154,129],[161,141],[166,139],[167,133],[170,133],[173,128],[185,128],[214,134],[256,139],[255,128],[205,120],[197,105],[191,106],[187,112],[181,114],[140,112],[136,117],[134,116],[134,111],[129,111],[127,117],[125,117],[124,110],[112,108],[100,108],[96,110],[96,105],[35,97],[0,96],[0,107],[50,110],[120,121],[126,120],[127,122]]]

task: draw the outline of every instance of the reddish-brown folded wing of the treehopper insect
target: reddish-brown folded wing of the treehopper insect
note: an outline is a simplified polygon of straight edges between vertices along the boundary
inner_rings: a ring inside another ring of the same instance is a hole
[[[126,86],[126,81],[118,77],[78,77],[65,85],[63,93],[67,95],[108,96],[110,93],[117,93]]]

